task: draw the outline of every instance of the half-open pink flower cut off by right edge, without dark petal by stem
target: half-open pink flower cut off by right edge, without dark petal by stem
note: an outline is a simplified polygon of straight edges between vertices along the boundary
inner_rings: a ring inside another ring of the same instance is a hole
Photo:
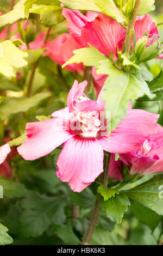
[[[163,127],[158,124],[157,132],[140,140],[131,153],[121,154],[122,161],[128,164],[130,174],[151,174],[163,171]]]

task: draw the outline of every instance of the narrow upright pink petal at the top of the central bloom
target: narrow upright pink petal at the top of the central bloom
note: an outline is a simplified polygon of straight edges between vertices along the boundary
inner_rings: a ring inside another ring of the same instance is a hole
[[[87,86],[87,81],[83,81],[82,83],[78,83],[77,80],[74,81],[73,86],[68,93],[67,97],[67,106],[69,107],[69,111],[73,111],[73,100],[78,100],[80,96],[82,96],[85,87]]]

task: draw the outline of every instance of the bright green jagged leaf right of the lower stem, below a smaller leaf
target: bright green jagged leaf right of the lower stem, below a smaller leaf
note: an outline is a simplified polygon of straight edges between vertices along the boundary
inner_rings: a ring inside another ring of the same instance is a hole
[[[116,194],[107,201],[101,200],[100,208],[105,209],[108,217],[112,216],[117,223],[121,223],[124,211],[128,210],[130,205],[129,199],[126,194]]]

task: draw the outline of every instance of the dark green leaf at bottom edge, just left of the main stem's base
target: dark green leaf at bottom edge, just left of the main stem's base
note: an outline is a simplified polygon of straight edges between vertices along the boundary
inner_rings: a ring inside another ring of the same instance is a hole
[[[64,241],[65,245],[79,245],[80,241],[68,225],[54,224],[55,234]]]

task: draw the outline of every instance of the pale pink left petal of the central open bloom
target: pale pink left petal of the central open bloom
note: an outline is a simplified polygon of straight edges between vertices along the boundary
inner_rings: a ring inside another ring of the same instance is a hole
[[[60,118],[27,123],[26,133],[28,138],[17,148],[18,153],[25,160],[35,160],[45,156],[74,136],[68,132]]]

